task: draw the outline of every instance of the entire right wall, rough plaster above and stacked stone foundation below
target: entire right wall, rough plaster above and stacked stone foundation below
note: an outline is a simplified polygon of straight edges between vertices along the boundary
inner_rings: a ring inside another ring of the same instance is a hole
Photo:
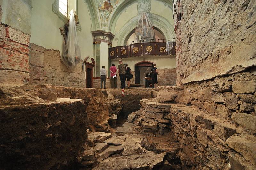
[[[181,15],[181,20],[175,15],[177,84],[184,86],[180,102],[203,112],[171,109],[172,131],[190,160],[207,168],[223,168],[222,158],[233,169],[256,165],[248,155],[255,157],[256,148],[255,7],[255,1],[240,0],[182,0],[176,6]],[[191,149],[195,146],[199,150]]]

